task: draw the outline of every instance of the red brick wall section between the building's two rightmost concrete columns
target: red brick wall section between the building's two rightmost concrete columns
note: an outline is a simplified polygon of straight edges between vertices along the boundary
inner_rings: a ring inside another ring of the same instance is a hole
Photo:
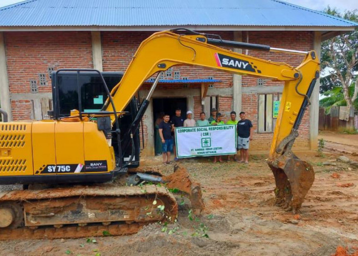
[[[292,50],[309,51],[313,49],[313,33],[312,32],[298,32],[298,31],[250,31],[243,32],[242,39],[252,44],[269,45],[275,48],[284,48]],[[245,50],[242,51],[244,54]],[[282,53],[266,53],[258,51],[248,51],[248,55],[258,57],[261,59],[272,60],[276,62],[286,62],[289,65],[297,67],[303,60],[303,56],[294,54]],[[265,86],[283,86],[283,82],[276,82],[265,80]],[[242,77],[242,87],[257,86],[257,78],[255,77]],[[257,94],[242,94],[242,111],[247,113],[247,118],[253,123],[254,139],[251,142],[253,150],[268,150],[271,146],[273,133],[257,133],[257,109],[258,109],[258,96]],[[306,110],[303,116],[299,137],[296,139],[295,147],[308,147],[309,146],[309,109]]]

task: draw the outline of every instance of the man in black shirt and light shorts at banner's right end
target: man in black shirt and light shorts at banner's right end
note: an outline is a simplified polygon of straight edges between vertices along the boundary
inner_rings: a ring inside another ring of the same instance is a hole
[[[246,119],[245,112],[240,112],[240,121],[237,123],[237,149],[240,150],[242,163],[249,163],[249,144],[252,140],[252,123]]]

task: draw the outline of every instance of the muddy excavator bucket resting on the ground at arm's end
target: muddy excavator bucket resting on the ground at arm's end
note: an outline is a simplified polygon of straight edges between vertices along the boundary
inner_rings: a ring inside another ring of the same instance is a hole
[[[292,156],[280,156],[267,161],[276,182],[275,205],[294,213],[301,208],[304,197],[315,180],[315,172],[306,161]]]

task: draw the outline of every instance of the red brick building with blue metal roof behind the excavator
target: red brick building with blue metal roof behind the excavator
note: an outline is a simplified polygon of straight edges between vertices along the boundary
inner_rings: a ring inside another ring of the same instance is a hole
[[[229,40],[320,53],[322,40],[356,26],[277,0],[28,0],[0,9],[0,102],[13,120],[42,119],[52,102],[52,70],[124,72],[140,42],[154,31],[185,27]],[[243,53],[293,66],[302,60],[299,55]],[[209,84],[204,98],[201,84]],[[140,91],[142,97],[147,88]],[[209,115],[212,107],[226,114],[226,119],[232,110],[247,112],[255,131],[252,149],[267,151],[276,118],[265,110],[280,99],[282,88],[278,82],[201,68],[168,70],[143,119],[144,153],[153,154],[155,115],[163,110],[173,114],[178,106],[183,112],[192,110],[195,119],[202,110]],[[317,146],[318,99],[319,84],[296,147]]]

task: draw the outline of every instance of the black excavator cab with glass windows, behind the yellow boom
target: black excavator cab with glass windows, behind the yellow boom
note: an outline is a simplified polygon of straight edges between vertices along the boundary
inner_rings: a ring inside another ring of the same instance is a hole
[[[102,75],[105,84],[103,83],[100,74]],[[77,74],[75,70],[60,70],[58,72],[53,71],[51,74],[51,84],[54,110],[49,112],[50,116],[53,118],[69,117],[72,110],[78,110],[83,113],[101,111],[104,102],[106,102],[108,98],[105,86],[108,88],[108,91],[111,91],[116,86],[116,84],[120,82],[121,78],[123,77],[123,72],[100,72],[100,74],[96,71],[81,70],[79,74]],[[81,102],[79,102],[79,99],[81,99]],[[138,113],[138,108],[139,100],[137,97],[133,97],[124,109],[126,114],[121,115],[121,117],[118,119],[120,137],[122,139],[129,131],[130,124],[135,120]],[[127,145],[124,147],[123,143],[121,143],[122,163],[131,168],[136,168],[139,166],[139,133],[139,129],[133,133],[134,146],[132,143],[127,143]],[[119,158],[117,138],[117,134],[112,133],[111,145],[114,147],[116,157]],[[129,161],[130,159],[131,161]]]

